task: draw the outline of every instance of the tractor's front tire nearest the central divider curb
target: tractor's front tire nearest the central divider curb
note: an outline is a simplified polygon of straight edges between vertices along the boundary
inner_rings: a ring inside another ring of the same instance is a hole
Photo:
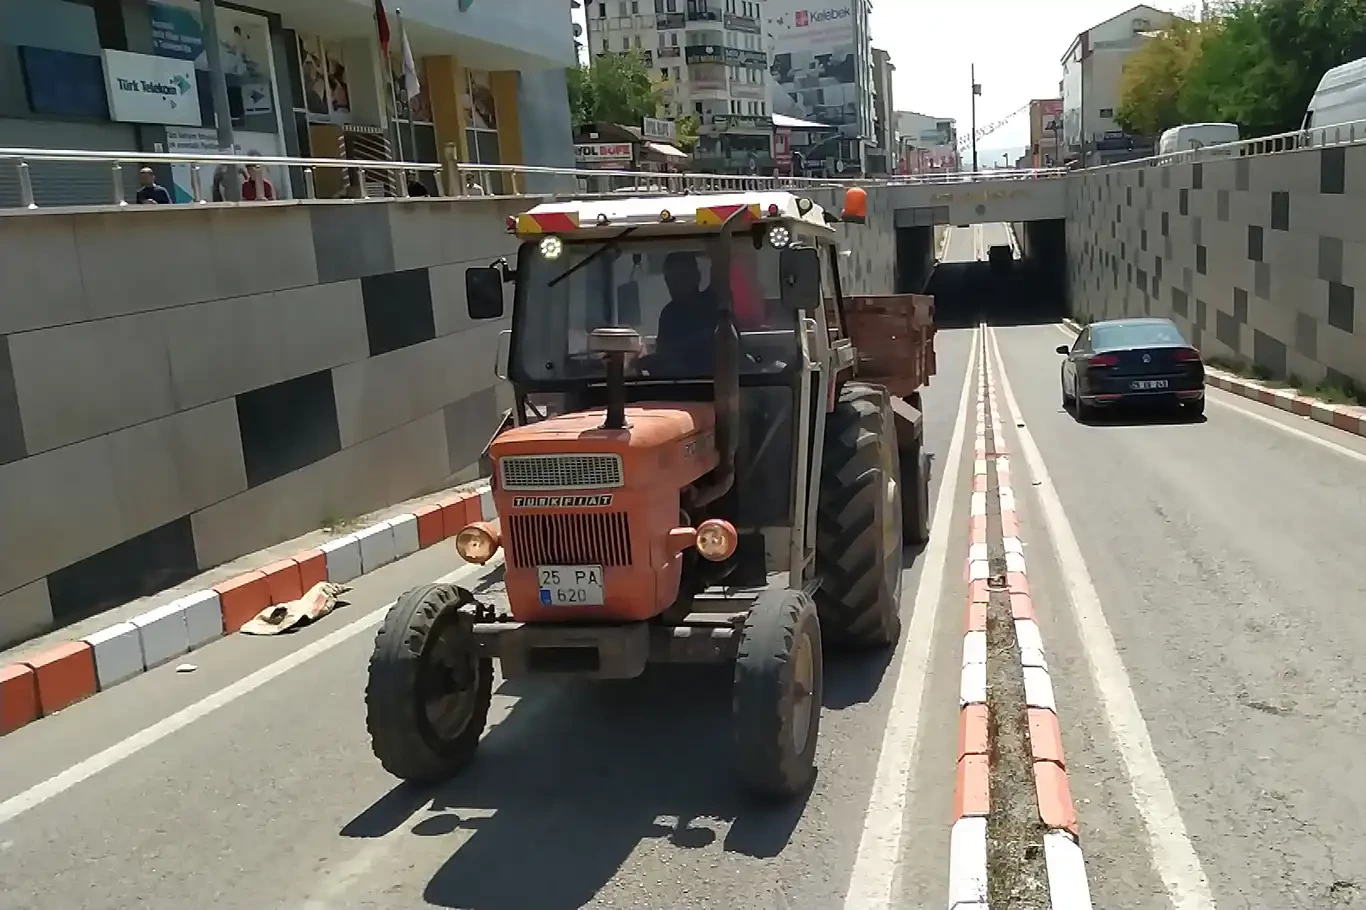
[[[791,799],[811,784],[824,678],[816,605],[799,590],[759,594],[731,690],[735,764],[754,795]]]

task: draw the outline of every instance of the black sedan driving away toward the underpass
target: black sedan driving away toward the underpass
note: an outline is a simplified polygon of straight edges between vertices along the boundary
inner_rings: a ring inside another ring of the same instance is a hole
[[[1191,417],[1205,413],[1205,363],[1171,320],[1091,322],[1057,353],[1067,355],[1063,407],[1075,406],[1079,421],[1128,402],[1171,403]]]

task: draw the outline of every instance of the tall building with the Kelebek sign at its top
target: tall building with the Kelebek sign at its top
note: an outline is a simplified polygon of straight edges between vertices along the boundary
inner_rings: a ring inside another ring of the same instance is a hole
[[[836,174],[865,171],[877,142],[869,0],[766,0],[773,112],[837,127]]]

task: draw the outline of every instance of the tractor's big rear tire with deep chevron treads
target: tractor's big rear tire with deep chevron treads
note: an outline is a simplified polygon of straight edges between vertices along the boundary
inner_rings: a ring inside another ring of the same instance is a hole
[[[902,634],[902,477],[885,389],[848,383],[825,419],[816,607],[825,641],[885,648]]]

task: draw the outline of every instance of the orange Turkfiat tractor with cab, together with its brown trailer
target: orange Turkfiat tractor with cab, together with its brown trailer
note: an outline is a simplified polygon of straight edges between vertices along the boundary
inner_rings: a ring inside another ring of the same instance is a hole
[[[494,660],[510,679],[734,661],[742,779],[810,783],[822,645],[896,645],[903,545],[929,533],[933,302],[844,295],[833,224],[866,205],[605,197],[508,219],[516,265],[466,273],[471,318],[512,290],[499,521],[456,537],[489,571],[384,620],[366,711],[391,773],[473,758]]]

